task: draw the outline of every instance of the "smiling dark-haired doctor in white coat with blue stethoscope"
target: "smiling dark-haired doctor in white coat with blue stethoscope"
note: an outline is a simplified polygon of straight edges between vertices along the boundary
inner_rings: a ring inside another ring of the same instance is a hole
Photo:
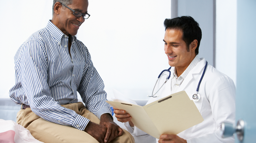
[[[169,72],[165,71],[156,83],[153,94],[147,104],[158,99],[185,90],[192,100],[196,94],[199,80],[206,66],[205,58],[199,58],[199,45],[202,32],[199,24],[190,16],[165,19],[164,51],[172,68],[170,79],[163,85]],[[158,142],[162,143],[230,143],[234,136],[221,137],[221,123],[235,123],[236,87],[232,79],[207,65],[205,75],[199,87],[200,99],[195,103],[204,121],[177,135],[164,134]],[[156,96],[155,95],[155,96]],[[115,109],[115,116],[125,122],[127,130],[136,136],[147,135],[131,122],[131,116],[125,110]],[[168,121],[166,122],[168,124]]]

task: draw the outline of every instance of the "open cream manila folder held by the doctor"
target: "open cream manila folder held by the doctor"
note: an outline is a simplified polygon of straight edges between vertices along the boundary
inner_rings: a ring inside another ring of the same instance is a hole
[[[113,107],[126,110],[133,118],[133,124],[158,138],[162,134],[178,133],[203,122],[194,101],[185,91],[177,92],[145,106],[106,101]]]

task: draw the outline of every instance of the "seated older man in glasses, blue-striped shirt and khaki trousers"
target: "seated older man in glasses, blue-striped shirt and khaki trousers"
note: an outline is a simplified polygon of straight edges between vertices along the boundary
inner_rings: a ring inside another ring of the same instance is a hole
[[[54,0],[52,20],[18,49],[10,90],[22,105],[17,123],[45,143],[134,142],[113,122],[104,83],[75,37],[90,16],[87,8],[87,0]],[[85,106],[77,102],[77,91]]]

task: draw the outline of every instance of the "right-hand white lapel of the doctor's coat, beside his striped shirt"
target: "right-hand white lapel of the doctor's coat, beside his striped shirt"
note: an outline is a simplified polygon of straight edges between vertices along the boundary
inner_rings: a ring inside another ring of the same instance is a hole
[[[202,58],[200,58],[202,59]],[[193,74],[200,73],[200,71],[205,67],[206,61],[205,58],[203,58],[200,62],[197,63],[197,65],[189,71],[179,88],[177,89],[177,92],[183,91],[186,86],[188,85],[189,81],[193,79]]]

